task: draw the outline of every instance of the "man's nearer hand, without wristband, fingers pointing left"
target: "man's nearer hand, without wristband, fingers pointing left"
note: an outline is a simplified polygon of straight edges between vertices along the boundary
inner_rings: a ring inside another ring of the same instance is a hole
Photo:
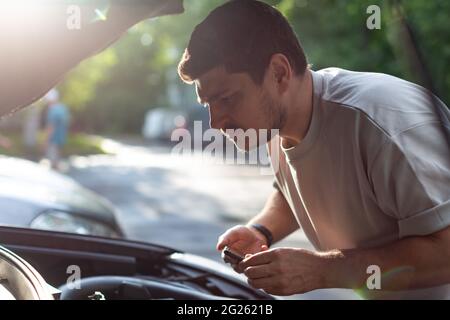
[[[297,248],[276,248],[244,259],[248,284],[274,295],[292,295],[327,287],[325,258]]]

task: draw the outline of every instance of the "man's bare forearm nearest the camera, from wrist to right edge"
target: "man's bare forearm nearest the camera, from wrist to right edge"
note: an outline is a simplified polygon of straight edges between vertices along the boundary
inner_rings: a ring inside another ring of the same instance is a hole
[[[426,288],[450,283],[450,228],[373,249],[325,253],[327,287],[365,287],[368,267],[381,270],[382,290]]]

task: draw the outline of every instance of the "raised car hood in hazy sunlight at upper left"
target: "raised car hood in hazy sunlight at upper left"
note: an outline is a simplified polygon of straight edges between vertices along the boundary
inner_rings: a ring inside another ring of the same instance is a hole
[[[99,14],[111,6],[113,17]],[[137,22],[181,12],[182,0],[1,1],[0,117],[41,98]]]

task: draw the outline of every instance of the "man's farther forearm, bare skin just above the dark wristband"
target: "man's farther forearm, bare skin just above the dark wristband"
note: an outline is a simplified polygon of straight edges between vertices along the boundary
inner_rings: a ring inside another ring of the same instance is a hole
[[[248,225],[259,223],[270,230],[277,242],[299,228],[294,214],[282,193],[275,190],[267,200],[264,209],[249,221]]]

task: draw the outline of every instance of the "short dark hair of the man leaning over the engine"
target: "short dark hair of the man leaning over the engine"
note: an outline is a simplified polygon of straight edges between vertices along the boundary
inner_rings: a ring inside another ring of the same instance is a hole
[[[191,83],[223,65],[228,72],[247,72],[261,84],[275,53],[284,54],[296,74],[304,73],[305,53],[286,18],[263,2],[232,0],[195,27],[178,74]]]

